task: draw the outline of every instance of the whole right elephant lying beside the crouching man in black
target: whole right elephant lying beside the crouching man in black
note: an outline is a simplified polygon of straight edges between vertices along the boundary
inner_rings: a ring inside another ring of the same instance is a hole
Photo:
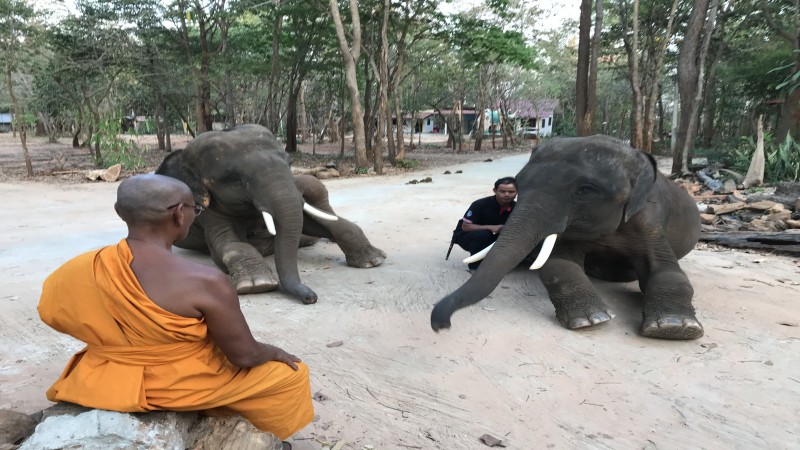
[[[533,149],[516,180],[514,211],[497,241],[465,260],[483,258],[477,271],[433,308],[435,331],[450,328],[456,310],[481,301],[509,271],[535,258],[531,269],[540,269],[565,328],[614,317],[591,276],[638,280],[641,335],[676,340],[703,335],[692,305],[694,289],[678,264],[700,236],[699,213],[689,194],[658,171],[652,156],[609,136],[551,138]]]

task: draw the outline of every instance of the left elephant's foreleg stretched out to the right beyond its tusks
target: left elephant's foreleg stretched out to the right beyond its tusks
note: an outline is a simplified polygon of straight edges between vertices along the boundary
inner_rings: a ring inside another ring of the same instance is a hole
[[[343,217],[339,217],[337,221],[329,222],[305,214],[303,217],[303,234],[324,237],[336,242],[344,252],[347,265],[351,267],[364,269],[375,267],[386,259],[386,253],[379,248],[373,247],[358,225]]]

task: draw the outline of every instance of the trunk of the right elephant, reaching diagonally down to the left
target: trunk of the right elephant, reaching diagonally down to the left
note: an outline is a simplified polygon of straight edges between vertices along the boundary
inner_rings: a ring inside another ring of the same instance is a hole
[[[461,308],[473,305],[491,294],[503,277],[516,267],[547,236],[566,228],[566,217],[547,223],[534,223],[541,211],[558,211],[542,203],[518,204],[492,249],[478,270],[460,288],[443,298],[433,308],[431,327],[450,328],[450,317]],[[551,239],[552,240],[552,239]]]

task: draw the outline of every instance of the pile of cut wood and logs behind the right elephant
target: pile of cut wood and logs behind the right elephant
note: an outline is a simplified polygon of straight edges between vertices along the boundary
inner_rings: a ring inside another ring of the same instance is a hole
[[[697,202],[701,241],[800,255],[800,183],[743,190],[709,168],[696,177],[678,183]]]

